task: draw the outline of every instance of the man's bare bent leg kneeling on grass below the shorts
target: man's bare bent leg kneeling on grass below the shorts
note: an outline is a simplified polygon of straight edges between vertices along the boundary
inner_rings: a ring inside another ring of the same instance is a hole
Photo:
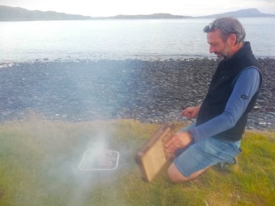
[[[210,167],[210,166],[209,166]],[[201,175],[204,171],[206,171],[209,167],[206,167],[202,170],[196,171],[194,173],[192,173],[188,178],[184,175],[182,175],[182,173],[178,170],[178,168],[175,166],[174,163],[172,163],[168,169],[168,176],[170,178],[170,180],[173,183],[184,183],[187,182],[189,180],[193,180],[195,178],[197,178],[197,176]]]

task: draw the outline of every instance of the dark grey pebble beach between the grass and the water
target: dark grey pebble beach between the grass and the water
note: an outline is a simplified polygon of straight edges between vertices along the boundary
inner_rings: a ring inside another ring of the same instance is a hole
[[[258,61],[264,79],[247,129],[274,129],[275,59]],[[54,121],[194,122],[180,113],[203,101],[217,63],[207,57],[16,63],[0,68],[0,122],[24,119],[30,110]]]

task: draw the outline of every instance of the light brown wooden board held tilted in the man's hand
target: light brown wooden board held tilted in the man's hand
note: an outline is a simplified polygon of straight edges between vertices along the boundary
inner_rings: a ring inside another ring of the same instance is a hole
[[[140,166],[142,179],[151,182],[170,158],[165,144],[173,136],[174,124],[162,125],[135,155]]]

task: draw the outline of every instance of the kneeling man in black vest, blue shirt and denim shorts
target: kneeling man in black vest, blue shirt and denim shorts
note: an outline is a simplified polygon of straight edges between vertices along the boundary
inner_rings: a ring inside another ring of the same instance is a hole
[[[209,52],[221,59],[202,105],[182,114],[196,124],[176,133],[166,144],[176,155],[168,169],[172,182],[186,182],[239,153],[248,113],[256,103],[262,75],[245,32],[234,18],[218,18],[204,27]],[[184,152],[182,152],[184,151]],[[180,154],[179,154],[180,153]]]

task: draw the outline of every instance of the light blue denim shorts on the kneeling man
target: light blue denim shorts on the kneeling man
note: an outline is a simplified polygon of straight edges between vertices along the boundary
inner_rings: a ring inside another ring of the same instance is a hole
[[[193,127],[195,123],[179,132]],[[174,159],[174,164],[185,177],[189,177],[192,173],[208,166],[220,162],[232,162],[240,153],[239,148],[240,140],[233,142],[219,139],[218,136],[209,137],[189,145],[187,149],[181,150],[181,153],[180,150],[176,151],[175,154],[178,156]]]

